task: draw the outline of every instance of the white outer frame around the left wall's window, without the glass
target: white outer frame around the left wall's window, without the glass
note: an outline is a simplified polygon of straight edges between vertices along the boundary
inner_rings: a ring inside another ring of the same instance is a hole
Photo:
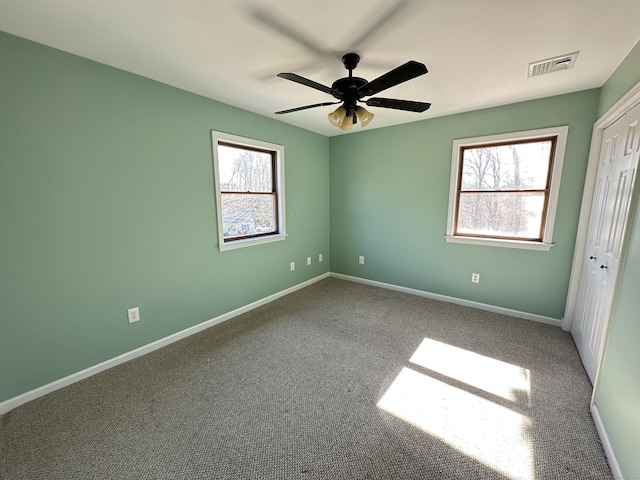
[[[255,140],[252,138],[241,137],[238,135],[232,135],[230,133],[211,131],[211,140],[213,147],[213,182],[216,190],[216,213],[218,223],[218,248],[220,251],[233,250],[236,248],[249,247],[252,245],[261,245],[264,243],[277,242],[284,240],[287,237],[286,222],[285,222],[285,200],[284,200],[284,147],[274,143],[263,142],[261,140]],[[241,238],[237,240],[227,240],[224,238],[224,228],[222,225],[222,195],[220,189],[220,175],[219,175],[219,159],[218,159],[218,144],[226,143],[237,145],[238,147],[258,148],[262,150],[269,150],[275,152],[276,155],[276,169],[273,172],[273,180],[276,186],[276,193],[278,204],[276,206],[278,225],[277,232],[272,235],[264,235],[253,238]]]

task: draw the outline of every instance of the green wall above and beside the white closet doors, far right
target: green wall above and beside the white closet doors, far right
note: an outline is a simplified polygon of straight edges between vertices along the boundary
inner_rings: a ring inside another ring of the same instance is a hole
[[[625,79],[625,80],[623,80]],[[640,82],[640,42],[604,85],[613,105]],[[602,112],[611,105],[604,105]],[[595,404],[616,455],[623,478],[640,478],[640,208],[636,178],[630,237],[605,354],[598,376]]]

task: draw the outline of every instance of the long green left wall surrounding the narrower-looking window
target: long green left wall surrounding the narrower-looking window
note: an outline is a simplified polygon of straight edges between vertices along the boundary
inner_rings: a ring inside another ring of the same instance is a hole
[[[328,271],[326,137],[4,33],[0,65],[0,401]],[[285,241],[218,250],[212,129],[284,145]]]

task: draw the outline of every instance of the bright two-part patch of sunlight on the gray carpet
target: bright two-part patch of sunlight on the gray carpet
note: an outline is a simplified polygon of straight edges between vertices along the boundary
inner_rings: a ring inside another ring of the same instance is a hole
[[[528,370],[429,339],[411,362],[507,400],[530,395]],[[534,478],[531,419],[511,408],[407,367],[377,406],[511,479]]]

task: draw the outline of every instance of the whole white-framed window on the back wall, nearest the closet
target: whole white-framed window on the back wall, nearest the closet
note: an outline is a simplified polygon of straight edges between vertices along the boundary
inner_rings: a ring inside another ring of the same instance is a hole
[[[455,140],[446,240],[549,250],[567,132]]]

